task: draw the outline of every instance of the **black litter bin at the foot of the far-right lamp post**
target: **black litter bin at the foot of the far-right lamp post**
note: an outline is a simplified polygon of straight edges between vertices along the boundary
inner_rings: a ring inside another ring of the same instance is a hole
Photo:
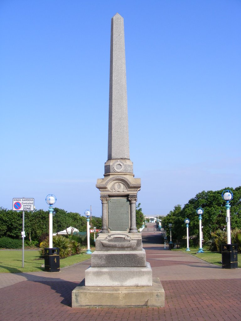
[[[222,244],[222,268],[238,268],[238,246],[237,244]]]

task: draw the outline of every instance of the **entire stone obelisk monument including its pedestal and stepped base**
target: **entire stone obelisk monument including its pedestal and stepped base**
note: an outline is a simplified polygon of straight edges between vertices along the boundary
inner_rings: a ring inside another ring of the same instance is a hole
[[[164,306],[164,290],[152,278],[136,227],[140,178],[129,158],[124,22],[117,13],[111,24],[108,160],[98,179],[102,230],[85,271],[85,284],[72,292],[72,306]]]

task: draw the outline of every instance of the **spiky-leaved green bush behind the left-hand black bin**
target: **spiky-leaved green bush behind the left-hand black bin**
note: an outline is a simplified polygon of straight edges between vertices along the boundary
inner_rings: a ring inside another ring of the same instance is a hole
[[[44,256],[44,248],[49,247],[49,237],[40,243],[40,256]],[[53,236],[53,247],[59,247],[59,257],[67,257],[72,254],[80,253],[80,246],[75,240],[69,239],[63,235]]]

